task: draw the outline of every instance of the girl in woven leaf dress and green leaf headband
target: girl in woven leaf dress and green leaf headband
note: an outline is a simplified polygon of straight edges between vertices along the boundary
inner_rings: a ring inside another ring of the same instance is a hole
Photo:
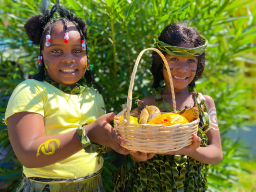
[[[198,135],[191,145],[166,154],[132,152],[120,171],[115,191],[127,192],[204,192],[207,191],[208,165],[222,160],[216,108],[210,96],[195,93],[195,81],[204,71],[207,40],[184,24],[169,24],[156,42],[168,61],[174,86],[177,109],[193,107],[197,102],[200,114]],[[172,111],[171,88],[167,70],[160,56],[153,52],[151,72],[155,96],[143,98],[147,105],[161,111]],[[165,85],[160,86],[161,81]],[[207,112],[207,113],[206,113]],[[209,118],[209,122],[207,122]],[[204,134],[207,131],[206,134]],[[151,158],[153,156],[153,158]],[[142,162],[145,161],[145,162]]]

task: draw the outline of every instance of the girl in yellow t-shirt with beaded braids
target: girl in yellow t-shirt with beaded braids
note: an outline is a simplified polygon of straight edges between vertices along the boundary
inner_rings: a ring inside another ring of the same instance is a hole
[[[115,114],[105,114],[103,97],[91,87],[87,24],[58,3],[51,10],[42,3],[42,14],[24,25],[39,45],[39,72],[15,88],[5,113],[23,164],[17,192],[103,192],[100,155],[106,146],[129,152],[110,125]]]

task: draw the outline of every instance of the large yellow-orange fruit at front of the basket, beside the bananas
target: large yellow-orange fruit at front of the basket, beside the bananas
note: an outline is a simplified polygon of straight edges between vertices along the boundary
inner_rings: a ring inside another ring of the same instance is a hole
[[[147,124],[171,126],[179,123],[185,124],[188,123],[188,120],[176,113],[164,113],[150,120]]]

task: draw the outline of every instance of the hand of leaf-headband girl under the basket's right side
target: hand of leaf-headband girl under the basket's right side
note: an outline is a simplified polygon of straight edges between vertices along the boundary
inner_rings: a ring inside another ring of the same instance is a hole
[[[189,154],[193,153],[199,146],[201,143],[201,138],[198,137],[196,134],[193,134],[193,140],[192,140],[192,144],[183,147],[182,149],[178,150],[178,151],[170,151],[167,153],[164,153],[165,155],[187,155],[189,156]]]

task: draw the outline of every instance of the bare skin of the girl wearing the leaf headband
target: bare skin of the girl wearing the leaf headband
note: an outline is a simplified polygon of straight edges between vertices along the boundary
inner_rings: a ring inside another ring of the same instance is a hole
[[[179,45],[179,47],[193,48],[193,46],[190,44],[181,44]],[[176,98],[176,108],[181,110],[185,108],[185,106],[193,107],[194,100],[187,88],[187,85],[190,84],[195,77],[198,62],[197,58],[182,58],[173,55],[166,55],[165,58],[169,64],[169,67],[172,69],[171,75]],[[166,68],[164,66],[162,68],[162,72],[166,85],[163,91],[161,92],[161,96],[166,102],[170,103],[172,106],[170,80]],[[206,133],[208,138],[208,146],[200,147],[201,138],[198,137],[196,134],[193,134],[192,144],[183,147],[178,151],[165,153],[166,155],[186,155],[194,158],[197,161],[211,165],[217,165],[221,162],[222,149],[219,128],[218,124],[214,122],[213,116],[210,115],[211,113],[209,113],[210,111],[213,111],[216,114],[215,104],[210,96],[205,95],[204,97],[206,98],[205,104],[207,107],[207,112],[209,114],[210,125],[213,128]],[[155,105],[155,96],[147,96],[144,97],[142,100],[145,101],[147,105]],[[160,110],[163,111],[163,109]],[[132,158],[135,160],[140,160],[142,158],[142,155],[144,156],[144,159],[147,160],[146,154],[136,152],[130,154],[130,156],[133,156]]]

